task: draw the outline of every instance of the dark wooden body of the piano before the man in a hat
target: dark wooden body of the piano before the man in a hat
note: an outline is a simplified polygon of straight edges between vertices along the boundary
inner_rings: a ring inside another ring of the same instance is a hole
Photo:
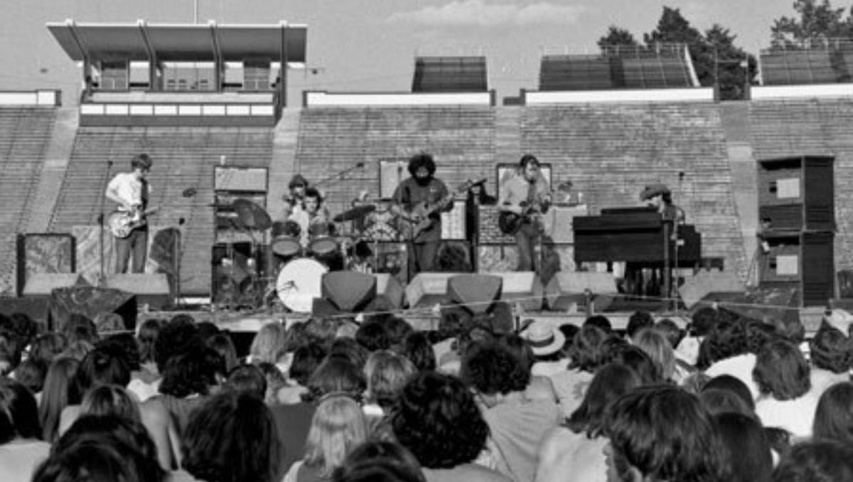
[[[674,241],[670,241],[670,252],[664,252],[664,237],[670,229],[678,233],[677,253]],[[638,267],[663,268],[669,254],[671,267],[691,268],[702,260],[702,235],[696,228],[664,223],[653,207],[602,209],[601,216],[574,218],[573,230],[576,263],[627,261]]]

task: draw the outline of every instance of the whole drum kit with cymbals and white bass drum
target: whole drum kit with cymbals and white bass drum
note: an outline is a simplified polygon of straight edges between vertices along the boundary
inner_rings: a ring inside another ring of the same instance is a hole
[[[242,283],[248,294],[239,302],[233,296],[226,297],[226,305],[232,301],[230,304],[260,309],[280,304],[287,311],[310,312],[313,299],[322,296],[324,274],[330,270],[385,271],[385,266],[377,268],[380,262],[376,245],[380,241],[399,241],[396,217],[388,218],[386,210],[377,210],[374,204],[353,206],[332,218],[332,222],[312,223],[307,234],[292,219],[273,222],[269,213],[251,200],[234,200],[231,207],[235,220],[230,229],[240,229],[248,235],[252,253],[247,261],[247,281]],[[261,241],[267,239],[268,232],[269,249],[264,250],[261,245],[266,243]],[[232,244],[227,244],[222,265],[226,273],[231,270],[233,275],[236,264]],[[263,253],[267,254],[264,262],[260,260]],[[265,270],[256,269],[258,264],[264,264]],[[271,296],[273,293],[276,297]]]

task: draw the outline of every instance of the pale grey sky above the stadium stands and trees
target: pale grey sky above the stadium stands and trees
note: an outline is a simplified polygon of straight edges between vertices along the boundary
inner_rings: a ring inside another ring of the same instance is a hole
[[[608,26],[651,32],[664,5],[699,30],[714,24],[757,54],[793,0],[3,0],[0,90],[62,89],[74,102],[82,74],[45,24],[83,22],[308,26],[308,69],[290,91],[408,91],[416,55],[485,55],[498,96],[536,90],[543,54],[594,53]],[[847,3],[833,2],[849,9]],[[290,97],[293,99],[293,96]],[[299,98],[299,97],[296,97]],[[69,100],[70,99],[70,100]]]

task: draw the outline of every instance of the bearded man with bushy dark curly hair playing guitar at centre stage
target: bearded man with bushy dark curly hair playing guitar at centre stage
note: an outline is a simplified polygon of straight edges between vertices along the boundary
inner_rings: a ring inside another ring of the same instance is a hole
[[[453,203],[446,201],[452,200],[449,194],[444,182],[435,177],[432,155],[415,154],[409,159],[409,177],[397,185],[392,196],[392,211],[403,219],[403,224],[419,227],[407,240],[409,279],[434,270],[441,243],[441,213],[453,208]]]

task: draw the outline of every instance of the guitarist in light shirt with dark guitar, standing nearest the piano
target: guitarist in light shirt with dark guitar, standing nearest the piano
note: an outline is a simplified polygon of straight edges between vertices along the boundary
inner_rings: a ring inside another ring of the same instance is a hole
[[[548,211],[550,203],[551,190],[539,171],[539,160],[525,154],[514,174],[503,180],[498,199],[500,228],[504,234],[515,236],[519,248],[519,271],[536,269],[534,253],[542,230],[539,217]]]

